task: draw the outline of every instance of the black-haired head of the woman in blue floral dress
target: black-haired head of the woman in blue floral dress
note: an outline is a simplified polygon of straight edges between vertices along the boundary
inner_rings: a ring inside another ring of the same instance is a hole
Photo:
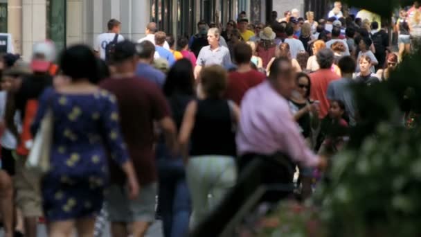
[[[64,76],[72,82],[89,80],[98,82],[98,63],[96,57],[88,46],[77,44],[65,49],[59,60],[60,69]]]

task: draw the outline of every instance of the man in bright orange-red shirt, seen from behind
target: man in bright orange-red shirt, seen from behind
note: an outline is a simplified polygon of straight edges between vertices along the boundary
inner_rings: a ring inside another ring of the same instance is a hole
[[[332,71],[332,64],[334,60],[334,54],[331,49],[322,49],[316,55],[317,62],[319,63],[320,69],[310,74],[310,80],[312,80],[312,88],[310,98],[313,100],[319,100],[320,112],[319,119],[323,119],[328,115],[330,103],[326,97],[326,91],[328,85],[334,80],[338,80],[340,76]]]

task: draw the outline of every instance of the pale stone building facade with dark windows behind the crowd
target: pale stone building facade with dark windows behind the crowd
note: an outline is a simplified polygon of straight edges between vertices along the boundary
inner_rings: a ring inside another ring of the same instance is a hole
[[[33,44],[45,39],[53,40],[58,49],[79,42],[93,46],[111,18],[122,22],[124,37],[138,40],[150,21],[172,35],[193,35],[200,19],[225,25],[244,10],[251,23],[265,23],[271,10],[278,11],[279,17],[292,8],[303,12],[304,1],[0,0],[0,33],[11,33],[15,51],[28,59]]]

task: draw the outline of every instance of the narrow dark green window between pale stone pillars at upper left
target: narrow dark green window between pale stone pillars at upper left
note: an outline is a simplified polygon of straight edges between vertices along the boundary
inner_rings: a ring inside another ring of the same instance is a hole
[[[57,51],[66,48],[66,0],[47,0],[47,37]]]

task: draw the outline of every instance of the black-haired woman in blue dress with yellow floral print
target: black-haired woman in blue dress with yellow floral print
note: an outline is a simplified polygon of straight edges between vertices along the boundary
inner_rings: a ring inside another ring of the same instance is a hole
[[[62,54],[60,67],[71,82],[44,91],[33,124],[35,134],[51,109],[53,144],[51,170],[42,181],[44,215],[49,236],[71,236],[74,227],[78,236],[93,236],[109,162],[123,168],[133,198],[138,183],[120,134],[116,98],[95,85],[93,53],[87,46],[72,46]]]

